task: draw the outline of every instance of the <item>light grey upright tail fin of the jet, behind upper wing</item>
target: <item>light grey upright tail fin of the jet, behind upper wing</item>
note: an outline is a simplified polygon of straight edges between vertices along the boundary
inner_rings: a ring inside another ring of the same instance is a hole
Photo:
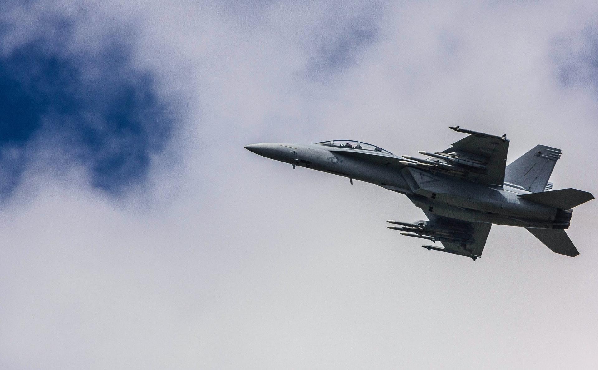
[[[536,145],[507,166],[505,182],[523,186],[531,192],[544,191],[560,155],[560,149]]]

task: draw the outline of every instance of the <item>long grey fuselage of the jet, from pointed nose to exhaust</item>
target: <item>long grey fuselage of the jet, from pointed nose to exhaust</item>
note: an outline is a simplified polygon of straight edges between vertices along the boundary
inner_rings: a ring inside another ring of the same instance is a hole
[[[298,167],[369,182],[407,195],[427,212],[469,222],[527,228],[568,228],[571,210],[518,197],[529,191],[509,184],[480,185],[443,173],[397,164],[395,155],[300,143],[261,143],[246,146],[264,157]]]

